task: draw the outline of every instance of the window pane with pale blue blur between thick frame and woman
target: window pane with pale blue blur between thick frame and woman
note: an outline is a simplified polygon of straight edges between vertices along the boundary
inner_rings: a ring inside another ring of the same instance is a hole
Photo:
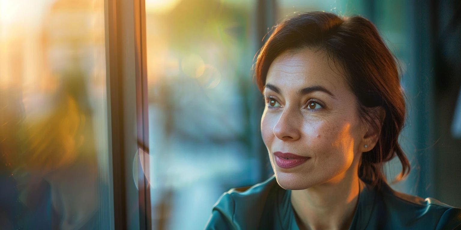
[[[262,178],[253,12],[253,1],[146,0],[153,229],[203,229],[223,192]]]

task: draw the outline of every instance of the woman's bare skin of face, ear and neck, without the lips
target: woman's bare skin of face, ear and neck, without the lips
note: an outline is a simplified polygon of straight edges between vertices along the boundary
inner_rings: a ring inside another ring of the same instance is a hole
[[[377,133],[357,114],[344,72],[324,52],[304,50],[284,52],[267,73],[262,138],[278,184],[293,190],[300,229],[349,228],[361,155],[377,142]],[[310,159],[282,168],[275,163],[276,151]]]

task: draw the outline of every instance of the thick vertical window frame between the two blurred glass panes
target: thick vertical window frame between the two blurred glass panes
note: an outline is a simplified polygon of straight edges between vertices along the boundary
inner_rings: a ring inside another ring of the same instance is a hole
[[[130,163],[137,158],[138,165],[143,164],[137,169],[142,173],[139,175],[148,173],[149,161],[139,158],[147,156],[138,154],[149,152],[145,1],[104,0],[104,11],[111,227],[152,229],[149,182],[145,176],[138,176],[139,189],[136,188],[131,182],[136,168]]]

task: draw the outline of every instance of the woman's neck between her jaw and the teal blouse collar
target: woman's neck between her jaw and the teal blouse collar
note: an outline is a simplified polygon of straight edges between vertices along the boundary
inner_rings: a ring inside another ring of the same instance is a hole
[[[291,203],[301,230],[349,229],[358,203],[358,167],[306,190],[292,190]]]

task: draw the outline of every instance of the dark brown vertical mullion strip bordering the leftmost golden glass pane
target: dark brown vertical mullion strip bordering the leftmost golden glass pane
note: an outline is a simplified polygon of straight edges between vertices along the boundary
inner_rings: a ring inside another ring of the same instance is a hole
[[[126,193],[123,141],[123,88],[121,84],[120,25],[117,1],[105,0],[106,89],[108,107],[109,155],[112,170],[113,229],[126,228]]]

